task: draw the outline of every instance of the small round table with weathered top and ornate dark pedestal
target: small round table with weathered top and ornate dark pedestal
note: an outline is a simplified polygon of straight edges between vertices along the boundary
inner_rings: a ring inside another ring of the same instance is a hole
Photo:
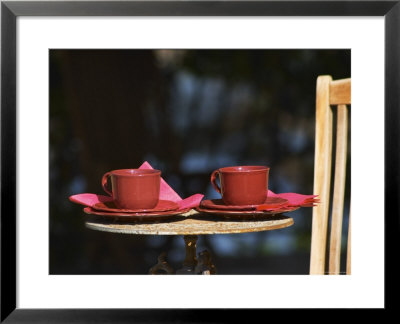
[[[216,268],[211,262],[210,254],[203,251],[198,258],[196,257],[198,235],[270,231],[291,226],[294,221],[283,214],[256,216],[250,219],[230,219],[221,215],[199,213],[192,209],[185,214],[165,220],[127,222],[113,218],[91,217],[85,224],[89,229],[111,233],[183,235],[186,256],[182,269],[174,271],[166,261],[166,253],[162,253],[158,257],[158,263],[150,269],[149,273],[213,274],[216,273]]]

